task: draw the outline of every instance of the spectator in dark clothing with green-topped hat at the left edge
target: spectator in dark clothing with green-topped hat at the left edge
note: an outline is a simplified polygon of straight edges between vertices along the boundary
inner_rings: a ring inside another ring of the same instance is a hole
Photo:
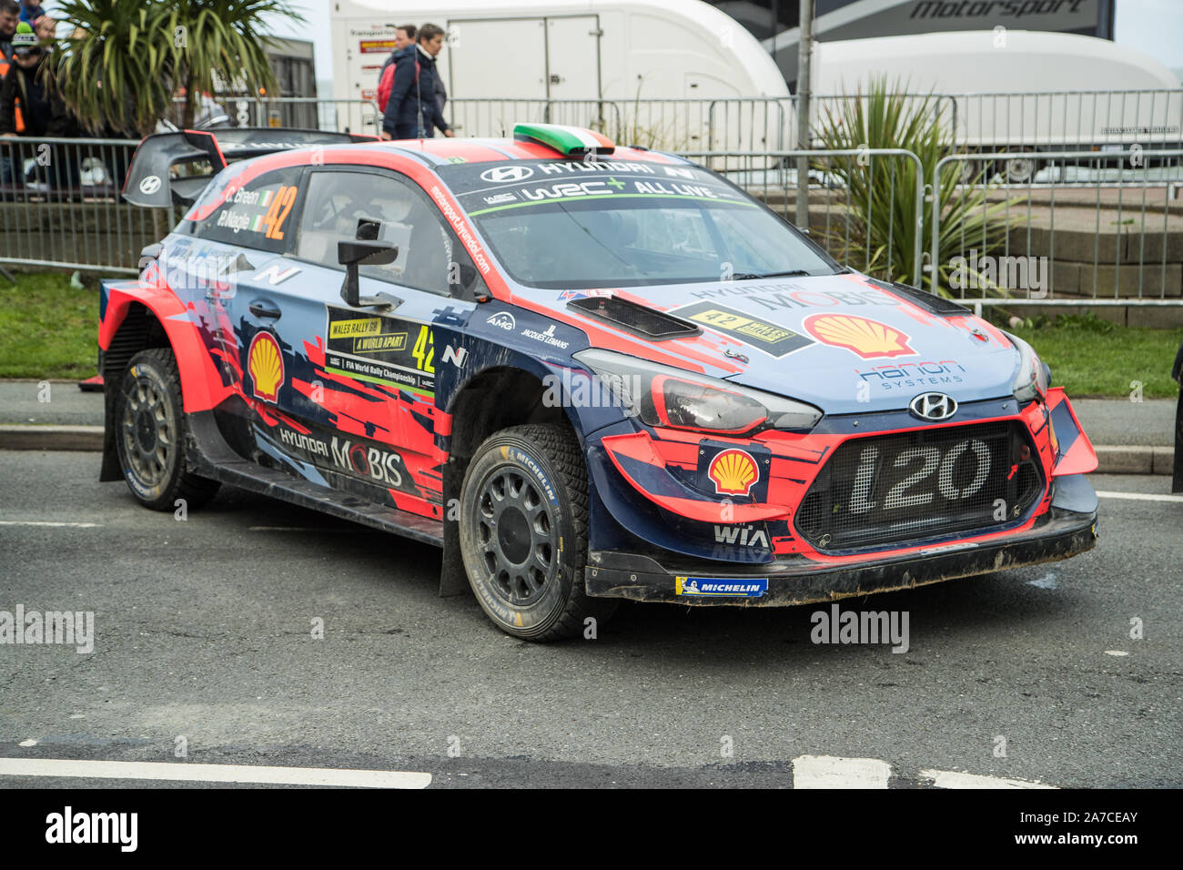
[[[33,28],[21,21],[12,38],[13,63],[0,83],[0,136],[76,136],[78,124],[53,92],[53,76]],[[19,162],[18,162],[19,165]],[[50,167],[62,183],[76,174],[69,157]]]

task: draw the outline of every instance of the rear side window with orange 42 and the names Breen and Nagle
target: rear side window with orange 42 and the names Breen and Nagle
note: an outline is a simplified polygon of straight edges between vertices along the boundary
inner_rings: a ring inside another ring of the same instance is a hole
[[[264,173],[241,186],[232,181],[226,187],[225,200],[193,225],[193,234],[227,245],[283,253],[296,232],[292,207],[302,173],[299,167],[291,167]],[[199,202],[194,211],[203,211],[203,206]]]

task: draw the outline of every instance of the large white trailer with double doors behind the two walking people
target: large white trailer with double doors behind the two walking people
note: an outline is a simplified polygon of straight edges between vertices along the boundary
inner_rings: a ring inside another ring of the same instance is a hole
[[[447,32],[438,63],[458,135],[549,121],[681,150],[783,144],[776,63],[700,0],[335,0],[335,97],[374,99],[395,27],[428,21]]]

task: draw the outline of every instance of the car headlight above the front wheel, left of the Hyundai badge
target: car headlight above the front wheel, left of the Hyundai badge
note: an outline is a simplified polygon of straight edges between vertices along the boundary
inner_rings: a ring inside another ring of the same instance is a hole
[[[809,430],[822,417],[813,405],[612,350],[581,350],[575,359],[649,426],[745,436],[768,428]]]

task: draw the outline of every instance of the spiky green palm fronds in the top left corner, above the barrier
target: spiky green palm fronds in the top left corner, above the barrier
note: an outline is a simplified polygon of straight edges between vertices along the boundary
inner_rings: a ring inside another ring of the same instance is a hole
[[[63,98],[91,131],[137,136],[180,89],[183,127],[215,84],[272,90],[270,21],[304,21],[285,0],[59,0],[57,14],[75,26],[54,76]]]

